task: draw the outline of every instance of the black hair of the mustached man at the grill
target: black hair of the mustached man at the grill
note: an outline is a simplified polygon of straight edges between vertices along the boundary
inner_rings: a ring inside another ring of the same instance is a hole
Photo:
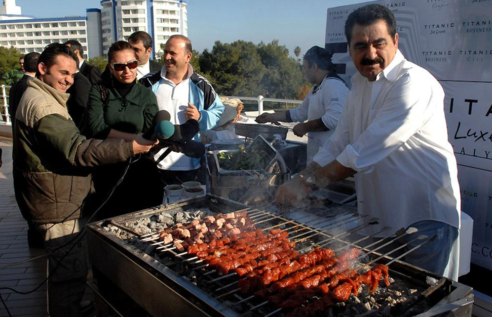
[[[388,33],[394,39],[396,35],[396,19],[393,12],[382,5],[371,4],[353,11],[347,18],[347,21],[345,21],[345,36],[347,37],[349,46],[354,25],[367,26],[378,20],[384,20],[386,22]]]

